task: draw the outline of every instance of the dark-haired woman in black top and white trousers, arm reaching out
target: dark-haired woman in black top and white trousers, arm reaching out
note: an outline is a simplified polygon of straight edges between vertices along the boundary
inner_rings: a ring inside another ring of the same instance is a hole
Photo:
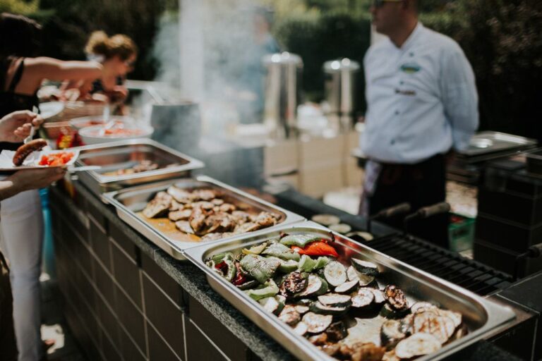
[[[0,116],[37,106],[44,79],[80,80],[103,77],[100,63],[36,57],[40,25],[24,16],[0,14]],[[13,145],[0,143],[0,149]],[[40,336],[40,267],[43,218],[37,190],[1,202],[1,235],[11,263],[13,314],[19,361],[42,358]]]

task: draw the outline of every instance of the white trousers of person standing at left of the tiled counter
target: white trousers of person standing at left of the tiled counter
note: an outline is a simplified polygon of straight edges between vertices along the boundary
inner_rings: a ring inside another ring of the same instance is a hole
[[[40,273],[43,213],[37,190],[20,192],[0,205],[2,250],[10,264],[13,321],[19,361],[42,357]]]

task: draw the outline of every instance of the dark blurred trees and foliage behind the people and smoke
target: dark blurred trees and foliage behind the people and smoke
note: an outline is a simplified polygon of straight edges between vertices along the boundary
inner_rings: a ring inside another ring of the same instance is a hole
[[[323,98],[324,61],[347,56],[362,63],[370,43],[370,0],[259,2],[274,8],[272,32],[282,48],[303,59],[306,99]],[[0,11],[42,23],[43,54],[60,59],[84,59],[92,30],[129,35],[140,47],[130,78],[152,80],[160,20],[166,11],[179,11],[179,5],[176,0],[0,0]],[[542,1],[421,0],[421,21],[456,39],[471,61],[481,129],[542,139]],[[364,99],[362,76],[359,97]]]

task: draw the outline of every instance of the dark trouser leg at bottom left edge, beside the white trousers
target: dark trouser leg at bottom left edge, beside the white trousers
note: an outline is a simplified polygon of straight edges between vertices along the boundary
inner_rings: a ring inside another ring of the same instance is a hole
[[[0,360],[16,361],[17,344],[13,329],[13,297],[9,283],[9,271],[0,252]]]

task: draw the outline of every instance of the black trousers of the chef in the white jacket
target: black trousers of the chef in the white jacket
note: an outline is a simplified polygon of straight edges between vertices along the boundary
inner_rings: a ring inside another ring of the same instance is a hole
[[[409,202],[412,212],[446,199],[446,161],[442,154],[418,164],[383,164],[374,194],[368,199],[369,214],[387,207]],[[404,216],[384,223],[402,229]],[[440,214],[412,221],[409,233],[441,247],[448,247],[448,215]]]

